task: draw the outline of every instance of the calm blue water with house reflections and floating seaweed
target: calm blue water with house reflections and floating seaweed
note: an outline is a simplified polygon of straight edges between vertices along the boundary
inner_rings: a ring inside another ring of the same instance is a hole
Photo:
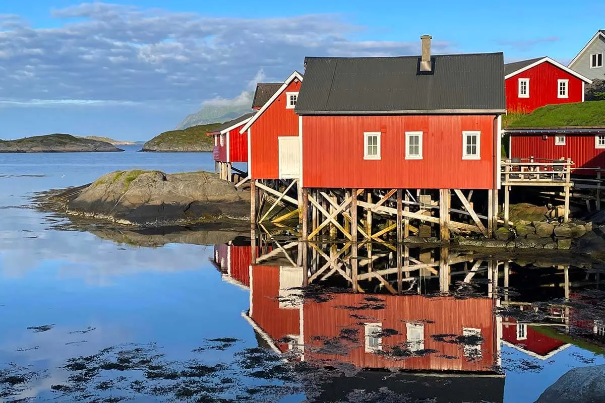
[[[28,207],[112,170],[214,169],[128,149],[0,154],[0,401],[533,402],[605,364],[599,262],[410,248],[400,285],[374,245],[354,293],[347,245],[143,247]]]

